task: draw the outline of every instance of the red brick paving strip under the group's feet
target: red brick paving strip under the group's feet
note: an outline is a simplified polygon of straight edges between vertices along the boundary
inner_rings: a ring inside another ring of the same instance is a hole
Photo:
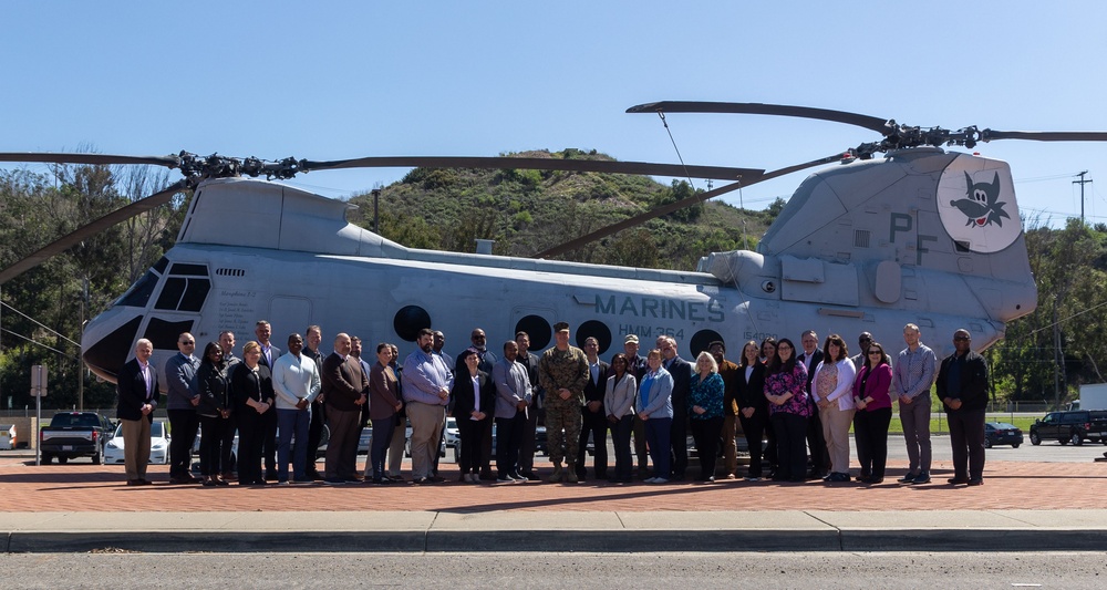
[[[929,485],[904,486],[896,478],[906,465],[890,465],[886,483],[776,484],[720,480],[716,484],[578,485],[526,483],[474,486],[456,483],[443,464],[445,484],[412,486],[168,485],[165,466],[151,466],[152,486],[128,487],[122,466],[87,464],[34,466],[0,460],[0,510],[46,511],[306,511],[306,510],[489,510],[720,511],[720,510],[997,510],[1107,508],[1107,463],[993,462],[980,487],[946,485],[949,463],[935,462]],[[693,469],[694,472],[694,469]],[[549,465],[542,470],[549,473]],[[406,472],[405,472],[406,475]]]

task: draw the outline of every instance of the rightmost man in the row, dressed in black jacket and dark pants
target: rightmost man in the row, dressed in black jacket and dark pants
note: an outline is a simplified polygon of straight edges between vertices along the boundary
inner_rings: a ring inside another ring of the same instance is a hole
[[[938,398],[950,421],[953,485],[984,483],[984,411],[987,410],[987,363],[970,350],[965,329],[953,333],[953,354],[938,370]]]

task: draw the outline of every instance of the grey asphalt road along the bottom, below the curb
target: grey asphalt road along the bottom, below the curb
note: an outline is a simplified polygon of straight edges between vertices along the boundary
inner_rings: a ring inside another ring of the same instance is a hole
[[[1103,588],[1107,553],[0,556],[10,588]]]

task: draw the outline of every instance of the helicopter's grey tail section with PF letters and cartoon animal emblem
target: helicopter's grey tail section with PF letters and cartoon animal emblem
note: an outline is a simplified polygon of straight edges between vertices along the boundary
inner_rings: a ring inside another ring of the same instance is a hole
[[[1010,166],[938,148],[819,170],[765,234],[759,258],[727,253],[711,266],[744,292],[842,312],[958,310],[1002,330],[1037,302]]]

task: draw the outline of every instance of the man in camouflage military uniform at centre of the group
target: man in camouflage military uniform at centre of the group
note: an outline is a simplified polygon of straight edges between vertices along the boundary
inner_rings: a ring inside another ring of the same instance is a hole
[[[573,462],[580,438],[580,407],[584,405],[584,385],[588,383],[588,356],[584,351],[569,345],[568,323],[555,323],[554,332],[555,346],[542,353],[538,362],[538,379],[546,390],[547,443],[550,460],[554,462],[554,474],[549,480],[556,484],[563,476],[568,483],[576,484]],[[567,462],[563,472],[561,459]]]

